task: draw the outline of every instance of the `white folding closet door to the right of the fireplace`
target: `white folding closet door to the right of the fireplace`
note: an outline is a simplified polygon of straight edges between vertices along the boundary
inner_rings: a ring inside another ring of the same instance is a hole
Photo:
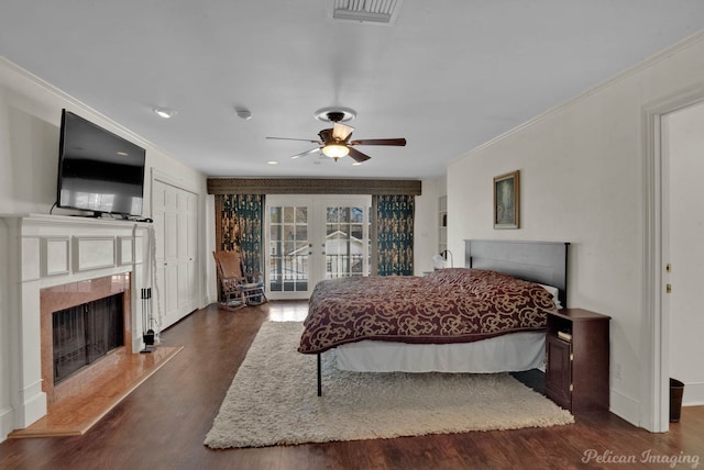
[[[155,301],[165,328],[197,305],[198,197],[160,180],[152,183],[152,214],[156,238]]]

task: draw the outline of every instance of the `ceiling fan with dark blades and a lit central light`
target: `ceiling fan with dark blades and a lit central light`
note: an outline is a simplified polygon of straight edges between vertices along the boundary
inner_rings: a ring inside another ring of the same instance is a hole
[[[338,161],[339,158],[349,155],[358,164],[366,161],[372,157],[354,148],[355,145],[391,145],[397,147],[403,147],[406,145],[405,138],[365,138],[363,141],[350,141],[354,127],[342,124],[341,121],[345,118],[345,115],[346,114],[343,111],[329,111],[324,113],[326,121],[330,121],[332,123],[332,127],[323,128],[322,131],[320,131],[318,133],[318,136],[320,136],[319,141],[288,137],[266,138],[277,141],[302,141],[318,144],[318,147],[294,155],[292,158],[300,158],[307,155],[322,153],[324,156],[330,157],[336,161]]]

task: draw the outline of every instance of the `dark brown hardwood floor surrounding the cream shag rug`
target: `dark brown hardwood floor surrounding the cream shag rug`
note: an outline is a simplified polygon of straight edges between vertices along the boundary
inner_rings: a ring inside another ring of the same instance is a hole
[[[164,345],[184,345],[184,350],[87,434],[6,440],[0,444],[0,468],[668,469],[673,468],[672,459],[681,461],[674,468],[696,468],[704,458],[704,406],[685,407],[680,423],[666,434],[596,413],[551,428],[217,451],[205,447],[204,438],[260,325],[270,318],[302,320],[305,314],[305,302],[271,302],[238,312],[211,305],[195,312],[162,334]],[[601,462],[584,462],[586,452]],[[616,463],[619,459],[631,463]]]

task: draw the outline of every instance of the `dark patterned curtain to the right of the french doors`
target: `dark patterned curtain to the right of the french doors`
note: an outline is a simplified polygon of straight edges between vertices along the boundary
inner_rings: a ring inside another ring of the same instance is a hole
[[[414,273],[414,195],[377,195],[376,271],[378,276]]]

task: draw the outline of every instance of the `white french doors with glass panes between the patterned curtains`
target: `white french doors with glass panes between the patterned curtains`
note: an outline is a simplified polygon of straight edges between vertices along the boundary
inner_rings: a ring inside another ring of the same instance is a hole
[[[322,279],[369,276],[370,195],[267,195],[266,290],[307,299]]]

